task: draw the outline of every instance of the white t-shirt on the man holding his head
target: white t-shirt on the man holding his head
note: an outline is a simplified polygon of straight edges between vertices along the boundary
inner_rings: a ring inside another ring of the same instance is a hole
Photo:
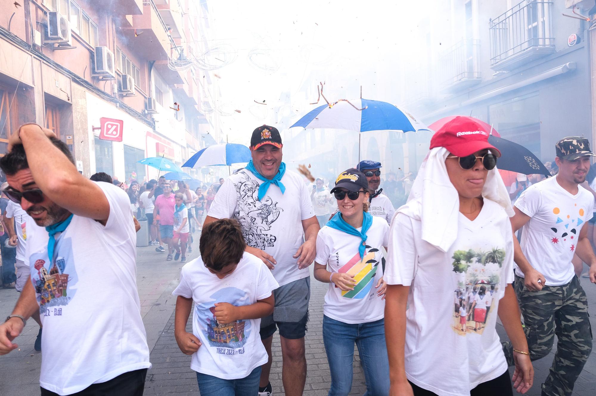
[[[136,289],[136,233],[131,201],[110,183],[96,183],[110,204],[105,226],[73,216],[55,235],[27,224],[26,260],[42,333],[42,388],[72,394],[92,383],[151,367]]]

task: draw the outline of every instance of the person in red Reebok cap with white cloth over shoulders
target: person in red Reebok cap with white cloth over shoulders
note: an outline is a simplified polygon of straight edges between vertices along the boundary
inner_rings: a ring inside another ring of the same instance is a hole
[[[512,395],[497,316],[516,351],[513,387],[532,386],[511,287],[513,209],[488,135],[464,117],[435,133],[391,224],[384,279],[392,395]]]

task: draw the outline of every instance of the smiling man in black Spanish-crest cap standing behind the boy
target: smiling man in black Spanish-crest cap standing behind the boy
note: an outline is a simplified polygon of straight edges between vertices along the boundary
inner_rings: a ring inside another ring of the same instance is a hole
[[[285,169],[281,136],[260,126],[250,139],[252,161],[232,174],[218,191],[203,227],[217,219],[236,219],[242,226],[246,251],[272,270],[280,288],[275,308],[261,320],[260,335],[269,354],[262,366],[259,395],[272,394],[269,383],[271,342],[280,329],[283,383],[286,395],[302,395],[306,381],[304,336],[310,299],[310,273],[319,223],[311,197],[297,173]],[[306,242],[303,242],[306,241]],[[277,325],[277,326],[276,326]]]

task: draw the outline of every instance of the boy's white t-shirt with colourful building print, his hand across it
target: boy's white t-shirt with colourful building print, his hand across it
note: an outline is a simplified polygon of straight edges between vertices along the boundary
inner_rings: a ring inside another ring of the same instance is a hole
[[[250,253],[244,253],[234,272],[224,279],[211,273],[201,257],[185,264],[180,284],[172,294],[194,302],[193,334],[203,345],[193,354],[191,369],[222,379],[239,379],[267,363],[259,335],[260,319],[219,323],[213,313],[215,303],[254,304],[278,287],[263,261]]]

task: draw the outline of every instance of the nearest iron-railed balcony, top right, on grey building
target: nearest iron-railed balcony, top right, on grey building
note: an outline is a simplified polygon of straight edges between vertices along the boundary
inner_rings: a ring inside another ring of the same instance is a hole
[[[555,52],[552,3],[523,0],[490,21],[493,70],[512,70]]]

